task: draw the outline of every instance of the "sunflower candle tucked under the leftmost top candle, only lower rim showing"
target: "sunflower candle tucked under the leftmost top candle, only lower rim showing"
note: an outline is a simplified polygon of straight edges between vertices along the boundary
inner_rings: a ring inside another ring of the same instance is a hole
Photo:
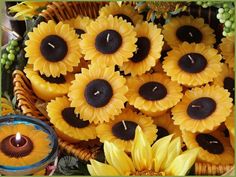
[[[74,79],[74,75],[70,73],[66,76],[60,75],[60,77],[56,78],[46,77],[38,71],[33,71],[33,68],[30,66],[26,66],[24,72],[31,82],[34,93],[37,97],[45,101],[66,95],[69,91],[71,81]]]

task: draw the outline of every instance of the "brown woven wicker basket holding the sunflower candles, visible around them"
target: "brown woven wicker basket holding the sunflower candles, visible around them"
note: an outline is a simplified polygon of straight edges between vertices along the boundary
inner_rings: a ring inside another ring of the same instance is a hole
[[[40,14],[40,18],[48,21],[62,21],[71,19],[77,15],[89,16],[96,18],[101,6],[106,2],[52,2],[47,6],[47,9]],[[34,94],[30,81],[25,74],[20,70],[15,70],[13,73],[14,94],[17,98],[18,107],[24,115],[32,116],[49,123],[45,114],[36,107],[38,101]],[[95,142],[87,142],[80,144],[70,144],[59,138],[59,145],[81,160],[88,161],[96,158],[101,151],[101,147]],[[196,163],[194,173],[196,175],[222,175],[233,169],[233,165],[213,165],[209,163]]]

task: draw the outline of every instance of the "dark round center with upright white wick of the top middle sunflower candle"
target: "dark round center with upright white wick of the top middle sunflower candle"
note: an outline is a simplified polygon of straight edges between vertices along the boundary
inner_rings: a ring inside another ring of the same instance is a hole
[[[115,30],[105,30],[95,39],[96,49],[103,54],[115,53],[122,44],[121,35]]]

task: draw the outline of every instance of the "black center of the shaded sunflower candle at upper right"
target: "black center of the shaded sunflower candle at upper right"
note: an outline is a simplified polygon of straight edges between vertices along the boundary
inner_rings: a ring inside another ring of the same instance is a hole
[[[202,33],[194,26],[184,25],[177,29],[176,36],[182,42],[200,43],[202,41]]]

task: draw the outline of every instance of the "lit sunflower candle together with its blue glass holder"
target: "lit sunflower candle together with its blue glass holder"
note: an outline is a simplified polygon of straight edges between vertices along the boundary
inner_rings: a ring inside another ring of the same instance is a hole
[[[45,123],[18,115],[0,118],[0,174],[36,173],[56,155],[57,138]]]

